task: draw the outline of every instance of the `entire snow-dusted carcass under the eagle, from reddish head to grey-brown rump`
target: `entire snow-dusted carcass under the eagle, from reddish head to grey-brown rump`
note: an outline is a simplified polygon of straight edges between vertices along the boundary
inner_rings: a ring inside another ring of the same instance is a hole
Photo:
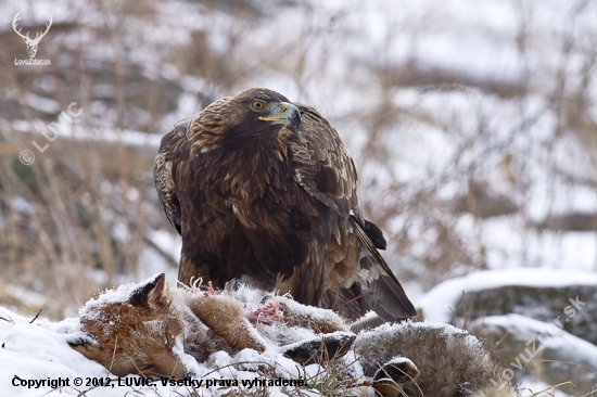
[[[203,362],[216,351],[275,348],[301,364],[323,363],[353,349],[379,396],[510,397],[499,388],[503,364],[466,331],[448,324],[383,324],[355,336],[331,310],[269,296],[258,308],[239,296],[196,289],[168,289],[164,274],[89,300],[79,319],[86,338],[71,346],[116,375],[189,375],[187,354]],[[300,340],[309,330],[310,340]],[[329,335],[329,336],[328,336]],[[322,351],[325,354],[322,354]],[[348,363],[350,362],[350,363]],[[497,387],[491,382],[495,380]]]

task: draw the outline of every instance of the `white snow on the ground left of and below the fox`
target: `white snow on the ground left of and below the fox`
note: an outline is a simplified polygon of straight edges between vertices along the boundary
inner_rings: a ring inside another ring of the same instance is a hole
[[[86,396],[187,396],[192,387],[162,385],[161,381],[154,381],[153,386],[135,386],[134,382],[140,382],[141,377],[129,375],[118,377],[112,375],[99,363],[88,360],[78,351],[72,349],[67,341],[79,334],[78,319],[66,319],[59,323],[52,323],[43,319],[37,319],[33,323],[30,318],[24,318],[3,307],[0,307],[0,394],[2,396],[77,396],[84,392]],[[191,358],[192,359],[192,358]],[[240,371],[226,367],[231,363],[242,363],[246,370]],[[194,364],[199,372],[198,380],[230,380],[234,376],[239,380],[254,380],[255,372],[251,372],[251,364],[268,362],[276,368],[282,379],[296,379],[301,374],[296,372],[297,366],[277,351],[265,351],[259,355],[254,350],[242,350],[233,357],[221,351],[213,355],[207,363]],[[224,367],[220,371],[215,368]],[[312,367],[312,366],[309,366]],[[307,370],[317,373],[317,369]],[[295,372],[295,373],[293,373]],[[41,384],[62,380],[62,387],[52,388],[51,385]],[[82,380],[82,385],[75,386],[77,379]],[[109,386],[93,387],[87,385],[88,380],[103,380]],[[65,384],[64,382],[66,382]],[[30,382],[28,385],[27,382]],[[128,385],[127,385],[128,383]],[[205,385],[205,382],[204,382]],[[196,387],[201,395],[218,395],[219,387]],[[271,395],[282,394],[282,387],[268,388]],[[221,390],[220,390],[221,392]],[[213,394],[212,394],[213,393]],[[314,394],[316,395],[316,394]]]

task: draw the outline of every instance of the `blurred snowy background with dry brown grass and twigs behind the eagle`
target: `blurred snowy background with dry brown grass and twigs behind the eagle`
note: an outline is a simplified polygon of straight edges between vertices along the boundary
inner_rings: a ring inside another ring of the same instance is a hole
[[[61,319],[176,274],[160,138],[251,87],[338,129],[414,302],[473,269],[597,271],[596,3],[0,1],[0,304]],[[18,11],[31,37],[52,15],[50,66],[15,65]]]

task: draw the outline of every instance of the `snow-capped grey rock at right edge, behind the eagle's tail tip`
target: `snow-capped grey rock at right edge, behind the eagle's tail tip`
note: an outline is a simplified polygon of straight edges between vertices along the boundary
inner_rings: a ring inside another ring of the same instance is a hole
[[[448,323],[458,321],[454,315],[475,319],[519,313],[541,321],[559,317],[564,330],[597,344],[595,273],[532,268],[479,271],[443,282],[418,304],[425,320]]]

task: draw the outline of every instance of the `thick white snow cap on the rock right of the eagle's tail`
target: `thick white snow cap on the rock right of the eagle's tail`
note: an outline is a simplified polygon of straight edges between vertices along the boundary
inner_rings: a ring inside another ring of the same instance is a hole
[[[597,274],[585,271],[536,268],[475,271],[436,285],[417,304],[423,310],[427,321],[448,322],[452,318],[450,307],[460,299],[462,292],[504,285],[597,285]]]

